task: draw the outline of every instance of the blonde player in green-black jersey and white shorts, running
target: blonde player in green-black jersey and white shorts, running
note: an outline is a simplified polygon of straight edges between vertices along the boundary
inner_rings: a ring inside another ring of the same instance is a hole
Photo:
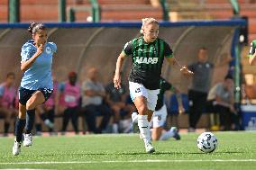
[[[159,22],[154,18],[142,19],[142,36],[127,42],[123,51],[117,58],[114,87],[121,86],[121,67],[123,60],[132,55],[133,67],[129,76],[130,95],[133,99],[139,115],[138,126],[145,144],[146,152],[152,153],[155,149],[151,145],[151,133],[149,121],[155,110],[160,93],[160,74],[163,59],[166,58],[169,64],[176,61],[173,58],[172,50],[165,40],[158,38]],[[182,67],[183,74],[193,74]]]

